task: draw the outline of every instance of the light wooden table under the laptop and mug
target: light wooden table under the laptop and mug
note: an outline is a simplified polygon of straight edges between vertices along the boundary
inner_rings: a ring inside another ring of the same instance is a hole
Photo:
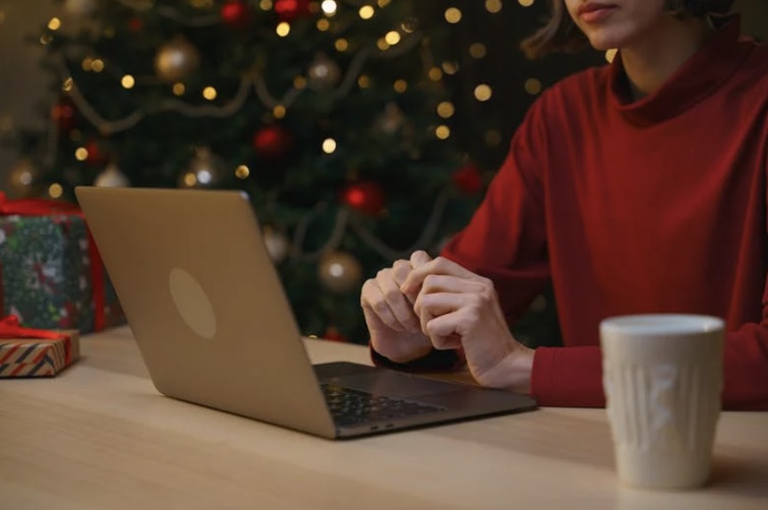
[[[768,413],[723,414],[706,489],[646,492],[617,483],[602,410],[334,442],[160,396],[128,328],[82,350],[53,379],[0,381],[0,508],[768,508]]]

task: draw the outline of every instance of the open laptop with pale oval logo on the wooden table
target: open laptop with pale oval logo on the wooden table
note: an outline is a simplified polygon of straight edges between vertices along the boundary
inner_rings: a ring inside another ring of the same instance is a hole
[[[313,366],[245,193],[80,186],[76,194],[167,397],[329,439],[536,406],[526,395],[383,367]]]

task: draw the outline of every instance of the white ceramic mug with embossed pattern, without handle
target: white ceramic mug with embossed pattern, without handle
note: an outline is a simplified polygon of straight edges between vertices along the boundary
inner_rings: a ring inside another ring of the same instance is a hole
[[[619,479],[649,489],[707,483],[723,389],[723,320],[609,317],[600,335]]]

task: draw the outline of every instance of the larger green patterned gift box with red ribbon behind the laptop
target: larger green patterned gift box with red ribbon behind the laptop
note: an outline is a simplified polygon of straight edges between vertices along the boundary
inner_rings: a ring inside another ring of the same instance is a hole
[[[72,204],[0,193],[0,308],[22,325],[78,329],[125,317],[82,213]]]

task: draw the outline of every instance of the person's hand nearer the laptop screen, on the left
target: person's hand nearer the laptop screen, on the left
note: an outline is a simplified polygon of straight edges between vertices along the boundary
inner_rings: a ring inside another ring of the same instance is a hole
[[[408,293],[400,289],[414,267],[431,259],[425,251],[416,251],[410,260],[396,260],[392,267],[381,269],[375,278],[363,284],[360,304],[371,346],[395,363],[413,361],[432,350],[432,343],[421,331],[421,322],[413,311],[419,289]]]

